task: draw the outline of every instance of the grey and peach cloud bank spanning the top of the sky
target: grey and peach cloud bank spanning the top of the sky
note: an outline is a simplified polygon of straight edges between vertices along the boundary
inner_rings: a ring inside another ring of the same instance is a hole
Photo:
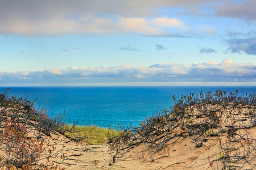
[[[207,15],[201,6],[212,8],[212,16],[255,20],[255,1],[233,0],[9,0],[0,2],[0,35],[142,35],[184,37],[192,29],[164,10],[180,8],[176,15]],[[159,10],[162,9],[162,10]],[[197,12],[195,12],[197,11]],[[212,35],[216,28],[200,25],[199,31]]]

